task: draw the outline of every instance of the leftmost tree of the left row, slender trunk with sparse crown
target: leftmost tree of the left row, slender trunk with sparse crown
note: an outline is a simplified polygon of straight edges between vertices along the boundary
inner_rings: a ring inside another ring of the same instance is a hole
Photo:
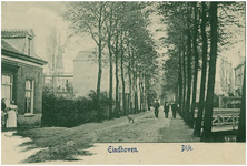
[[[100,85],[102,74],[102,50],[106,33],[103,24],[107,2],[68,2],[63,18],[71,23],[77,33],[88,32],[98,46],[98,81],[97,81],[97,111],[98,122],[101,122]]]

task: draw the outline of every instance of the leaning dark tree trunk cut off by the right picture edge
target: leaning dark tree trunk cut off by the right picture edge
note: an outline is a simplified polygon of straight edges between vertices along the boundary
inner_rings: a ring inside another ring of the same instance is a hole
[[[239,115],[237,142],[246,142],[246,68],[244,73],[241,110]]]

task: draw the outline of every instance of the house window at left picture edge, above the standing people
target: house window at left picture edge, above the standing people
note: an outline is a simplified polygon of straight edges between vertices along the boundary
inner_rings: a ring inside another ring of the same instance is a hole
[[[12,100],[12,75],[2,74],[1,98],[6,98],[6,105],[10,105]]]

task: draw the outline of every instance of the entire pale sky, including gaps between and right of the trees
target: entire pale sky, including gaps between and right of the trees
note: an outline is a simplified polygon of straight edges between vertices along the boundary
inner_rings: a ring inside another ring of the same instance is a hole
[[[68,31],[68,23],[62,20],[60,17],[61,11],[65,9],[62,2],[59,1],[27,1],[27,2],[14,2],[14,1],[6,1],[2,3],[2,17],[1,17],[1,27],[2,29],[33,29],[36,33],[34,44],[36,44],[36,54],[41,59],[47,60],[46,53],[46,40],[49,34],[50,28],[56,28],[58,33],[61,35],[61,42],[65,43]],[[149,27],[149,30],[154,34],[154,38],[157,42],[158,53],[162,54],[166,52],[166,48],[161,45],[158,39],[161,35],[165,35],[164,32],[156,32],[155,29],[162,28],[160,23],[158,23],[159,19],[157,15],[152,14],[151,21],[152,25]],[[239,37],[245,37],[239,35]],[[77,37],[69,40],[68,45],[66,46],[63,53],[63,63],[65,71],[72,72],[73,71],[73,62],[72,60],[76,58],[79,51],[92,50],[96,48],[93,41],[89,35]],[[228,50],[224,50],[220,55],[227,56],[227,59],[233,62],[234,66],[238,63],[236,61],[236,56],[240,51],[241,56],[245,55],[245,41],[241,43],[237,43],[228,48]],[[164,59],[162,56],[160,59]],[[165,58],[166,59],[166,58]],[[48,72],[48,68],[45,66],[45,72]]]

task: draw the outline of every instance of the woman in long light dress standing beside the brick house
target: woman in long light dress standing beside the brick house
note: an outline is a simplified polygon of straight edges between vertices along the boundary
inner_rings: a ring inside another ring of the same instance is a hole
[[[14,105],[14,101],[11,101],[11,104],[9,106],[9,112],[8,112],[8,118],[7,118],[7,128],[13,128],[17,127],[17,112],[18,106]]]

